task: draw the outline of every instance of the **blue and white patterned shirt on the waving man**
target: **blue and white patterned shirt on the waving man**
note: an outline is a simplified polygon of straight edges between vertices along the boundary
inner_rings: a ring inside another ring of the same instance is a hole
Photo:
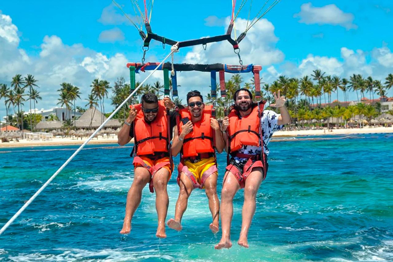
[[[264,134],[263,141],[264,141],[264,152],[266,156],[269,155],[268,144],[273,136],[273,133],[284,127],[283,125],[277,124],[278,116],[279,114],[275,113],[274,111],[265,110],[260,119],[260,124]],[[244,145],[242,148],[239,149],[238,152],[247,155],[259,155],[260,150],[261,150],[260,146]],[[238,161],[243,162],[244,160],[246,160],[237,157],[235,157],[234,159],[236,160],[236,162]]]

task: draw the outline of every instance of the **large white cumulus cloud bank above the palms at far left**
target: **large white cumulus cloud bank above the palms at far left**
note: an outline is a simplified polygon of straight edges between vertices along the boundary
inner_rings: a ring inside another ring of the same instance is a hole
[[[0,13],[0,83],[10,86],[16,74],[34,75],[42,97],[42,101],[37,104],[39,108],[56,106],[56,90],[62,82],[78,86],[83,100],[90,93],[90,84],[94,78],[106,79],[111,83],[121,76],[128,79],[129,72],[125,67],[128,59],[123,54],[108,57],[80,43],[65,45],[60,37],[52,35],[42,39],[38,55],[28,55],[19,47],[18,35],[20,32],[11,17]],[[77,105],[84,105],[85,101],[82,100]],[[105,107],[111,106],[107,104]],[[0,111],[4,116],[4,106],[0,107]]]

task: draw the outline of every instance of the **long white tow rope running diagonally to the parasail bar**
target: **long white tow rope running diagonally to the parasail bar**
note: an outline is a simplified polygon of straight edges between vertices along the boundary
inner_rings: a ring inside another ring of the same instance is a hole
[[[34,199],[42,192],[43,189],[45,189],[49,183],[51,183],[51,181],[57,176],[58,173],[60,173],[61,170],[63,170],[63,168],[65,166],[68,165],[68,163],[71,162],[71,160],[78,155],[79,151],[82,150],[82,148],[99,132],[99,130],[101,130],[102,127],[105,126],[105,124],[120,110],[120,108],[131,98],[134,96],[134,94],[138,91],[138,89],[142,86],[142,84],[149,79],[152,74],[154,74],[154,72],[157,71],[157,69],[161,66],[161,64],[163,62],[165,62],[166,59],[168,59],[169,56],[171,56],[173,54],[173,52],[177,52],[178,50],[178,43],[176,45],[174,45],[171,48],[170,53],[164,58],[164,60],[161,61],[161,63],[159,65],[157,65],[157,67],[138,85],[138,87],[134,90],[133,93],[131,93],[117,108],[116,110],[101,124],[100,127],[97,128],[97,130],[95,130],[95,132],[88,138],[88,140],[86,140],[75,152],[74,154],[67,160],[65,161],[65,163],[59,168],[57,169],[57,171],[53,174],[53,176],[45,183],[41,186],[40,189],[38,189],[38,191],[33,195],[33,197],[31,197],[29,199],[29,201],[27,201],[25,203],[25,205],[23,205],[23,207],[21,207],[18,212],[16,212],[11,219],[2,227],[2,229],[0,229],[0,235],[12,224],[12,222],[14,222],[15,219],[17,219],[17,217],[31,204],[31,202],[34,201]]]

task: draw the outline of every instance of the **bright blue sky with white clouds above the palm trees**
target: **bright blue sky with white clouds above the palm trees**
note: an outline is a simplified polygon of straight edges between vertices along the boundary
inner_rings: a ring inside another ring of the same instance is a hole
[[[138,22],[131,1],[117,2]],[[237,2],[238,6],[241,1]],[[264,2],[253,1],[251,17]],[[143,1],[138,3],[143,7]],[[237,29],[244,29],[249,7],[247,3],[239,14]],[[38,108],[55,106],[56,90],[63,81],[79,86],[85,99],[94,78],[112,83],[120,76],[128,80],[125,63],[141,59],[142,40],[112,1],[15,0],[3,1],[0,10],[0,82],[9,84],[15,74],[33,74],[43,98]],[[230,0],[156,0],[150,24],[157,34],[186,40],[223,34],[230,14]],[[279,75],[301,77],[315,69],[340,77],[356,73],[382,80],[393,73],[392,26],[390,0],[282,0],[249,31],[240,48],[244,63],[263,65],[265,82]],[[169,50],[152,42],[146,60],[161,61]],[[238,59],[231,45],[222,42],[208,45],[206,51],[181,49],[175,60],[231,64]],[[161,79],[157,74],[151,82]],[[209,76],[202,73],[183,73],[179,82],[187,87],[180,95],[189,89],[208,92],[210,84]],[[0,115],[4,112],[0,104]]]

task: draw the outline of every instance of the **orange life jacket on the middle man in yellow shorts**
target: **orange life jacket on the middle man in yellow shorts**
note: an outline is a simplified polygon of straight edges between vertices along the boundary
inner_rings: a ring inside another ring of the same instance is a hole
[[[190,133],[184,137],[183,141],[183,158],[197,157],[203,153],[213,153],[213,130],[210,126],[212,105],[205,105],[202,112],[201,121],[193,123]],[[188,118],[191,120],[191,113],[187,109],[179,110],[180,119]],[[182,132],[182,121],[179,121],[179,134]]]

